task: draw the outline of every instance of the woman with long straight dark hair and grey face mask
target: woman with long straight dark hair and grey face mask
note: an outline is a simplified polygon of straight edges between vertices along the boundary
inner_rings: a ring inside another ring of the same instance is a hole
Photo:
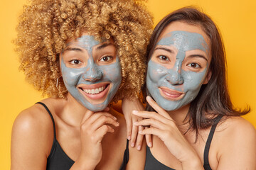
[[[228,94],[223,42],[196,8],[170,13],[147,49],[146,111],[135,125],[153,135],[145,169],[256,169],[255,128]]]

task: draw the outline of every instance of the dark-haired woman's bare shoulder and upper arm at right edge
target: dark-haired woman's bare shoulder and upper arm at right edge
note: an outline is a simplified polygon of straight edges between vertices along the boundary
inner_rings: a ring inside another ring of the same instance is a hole
[[[216,129],[218,169],[256,169],[256,131],[241,117],[230,117]]]

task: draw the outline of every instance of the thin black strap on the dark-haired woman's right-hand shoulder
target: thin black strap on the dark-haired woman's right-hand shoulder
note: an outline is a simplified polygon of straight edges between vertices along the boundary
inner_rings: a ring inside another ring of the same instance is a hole
[[[223,117],[223,115],[218,115],[218,117],[215,119],[215,123],[212,125],[212,128],[210,128],[210,133],[208,135],[208,139],[206,141],[206,147],[204,149],[203,153],[203,162],[204,164],[209,164],[209,150],[210,150],[210,143],[213,140],[213,134],[215,132],[215,129],[220,122],[220,119]]]

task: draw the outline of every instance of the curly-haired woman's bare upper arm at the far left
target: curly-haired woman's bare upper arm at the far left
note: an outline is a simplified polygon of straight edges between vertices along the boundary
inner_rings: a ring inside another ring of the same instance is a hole
[[[36,114],[34,114],[36,113]],[[21,112],[11,134],[11,169],[46,169],[53,145],[53,125],[36,106]]]

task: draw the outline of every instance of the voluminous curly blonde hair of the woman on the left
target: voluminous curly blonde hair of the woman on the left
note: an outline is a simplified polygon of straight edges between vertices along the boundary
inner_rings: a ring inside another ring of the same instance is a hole
[[[59,54],[82,30],[112,38],[122,67],[114,101],[137,96],[144,84],[145,53],[153,27],[142,0],[35,0],[23,6],[14,40],[26,80],[43,96],[66,98]]]

